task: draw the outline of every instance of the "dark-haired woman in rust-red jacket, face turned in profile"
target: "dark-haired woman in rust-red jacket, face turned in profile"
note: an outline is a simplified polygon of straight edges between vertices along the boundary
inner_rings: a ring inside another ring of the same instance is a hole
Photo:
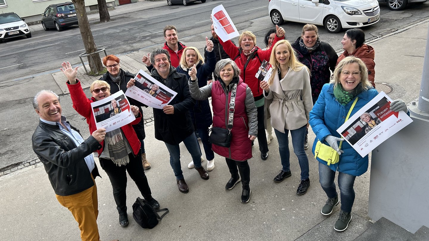
[[[344,34],[341,44],[343,45],[344,52],[338,56],[337,65],[347,56],[354,56],[360,58],[365,63],[368,69],[368,80],[372,86],[375,87],[375,50],[369,45],[364,44],[365,33],[360,28],[350,28]]]

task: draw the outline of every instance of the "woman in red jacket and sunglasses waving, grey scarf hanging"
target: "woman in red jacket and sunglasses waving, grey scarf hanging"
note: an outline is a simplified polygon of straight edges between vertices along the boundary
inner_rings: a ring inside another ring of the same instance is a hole
[[[61,71],[66,75],[67,87],[72,98],[73,108],[83,117],[89,126],[90,133],[97,130],[91,103],[110,96],[110,87],[106,81],[96,80],[91,84],[91,98],[87,98],[79,80],[76,79],[77,68],[72,68],[69,62],[62,63]],[[116,102],[116,101],[115,101]],[[142,117],[139,108],[131,105],[136,120],[116,130],[106,133],[106,138],[100,144],[103,148],[94,153],[100,160],[100,166],[109,176],[113,188],[113,197],[119,213],[119,224],[128,225],[127,216],[127,172],[136,183],[140,193],[153,208],[159,208],[160,204],[152,197],[142,165],[140,141],[133,129],[133,124],[138,124]],[[110,116],[110,113],[109,113]]]

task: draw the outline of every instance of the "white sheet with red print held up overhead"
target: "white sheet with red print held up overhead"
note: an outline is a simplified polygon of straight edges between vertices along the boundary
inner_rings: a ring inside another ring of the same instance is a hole
[[[222,41],[227,42],[240,36],[239,31],[222,4],[211,11],[211,21],[215,27],[215,33]]]

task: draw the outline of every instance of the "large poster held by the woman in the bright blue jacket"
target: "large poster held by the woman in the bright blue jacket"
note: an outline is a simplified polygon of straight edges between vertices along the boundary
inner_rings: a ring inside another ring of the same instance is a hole
[[[390,102],[392,99],[381,91],[338,128],[337,132],[362,157],[413,122],[404,111],[391,111]]]

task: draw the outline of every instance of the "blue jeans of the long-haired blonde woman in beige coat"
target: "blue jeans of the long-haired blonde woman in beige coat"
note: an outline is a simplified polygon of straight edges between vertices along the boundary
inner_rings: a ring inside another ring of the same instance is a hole
[[[293,152],[298,157],[299,167],[301,168],[301,180],[307,180],[309,177],[308,157],[304,151],[304,139],[306,126],[296,130],[290,130],[292,136]],[[274,129],[278,141],[278,151],[280,152],[281,166],[284,172],[290,171],[290,152],[289,152],[289,130],[284,129],[284,133]]]

